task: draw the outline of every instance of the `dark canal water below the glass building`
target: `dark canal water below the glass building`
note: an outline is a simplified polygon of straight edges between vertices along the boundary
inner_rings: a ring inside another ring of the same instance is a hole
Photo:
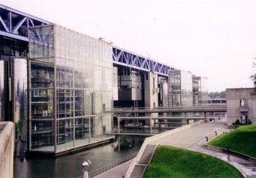
[[[14,158],[14,178],[77,178],[83,175],[82,163],[90,160],[89,172],[138,152],[146,137],[116,137],[113,143],[57,158]]]

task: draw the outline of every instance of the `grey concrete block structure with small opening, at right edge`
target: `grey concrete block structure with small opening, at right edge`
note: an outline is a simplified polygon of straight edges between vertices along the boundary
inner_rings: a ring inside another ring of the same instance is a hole
[[[226,89],[226,114],[227,123],[236,122],[240,120],[241,116],[245,114],[252,124],[256,124],[256,96],[250,95],[253,88],[239,88]],[[248,112],[240,112],[240,100],[244,101],[244,106],[247,106]]]

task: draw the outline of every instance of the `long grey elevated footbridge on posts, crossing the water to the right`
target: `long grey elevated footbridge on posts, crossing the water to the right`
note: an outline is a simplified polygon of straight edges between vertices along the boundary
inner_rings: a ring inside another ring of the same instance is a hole
[[[184,117],[155,117],[153,113],[170,113],[181,112],[184,113]],[[204,117],[188,117],[187,113],[204,113]],[[207,117],[207,113],[224,113],[226,112],[226,106],[188,106],[188,107],[156,107],[156,108],[115,108],[114,114],[117,116],[118,134],[120,134],[120,120],[149,120],[150,133],[152,135],[152,122],[151,120],[177,120],[183,119],[185,124],[188,124],[189,120],[207,120],[215,117]],[[123,116],[126,114],[145,114],[145,117],[129,117]]]

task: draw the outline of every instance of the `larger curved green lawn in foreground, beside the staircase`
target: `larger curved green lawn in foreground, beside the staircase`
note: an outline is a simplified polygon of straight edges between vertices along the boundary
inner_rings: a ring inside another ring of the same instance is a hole
[[[171,146],[158,146],[143,178],[243,177],[230,164],[212,156]]]

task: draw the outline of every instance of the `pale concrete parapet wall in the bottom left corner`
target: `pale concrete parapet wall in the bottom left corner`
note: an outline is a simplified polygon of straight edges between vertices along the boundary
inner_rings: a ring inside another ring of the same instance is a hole
[[[13,177],[14,124],[0,122],[0,178]]]

